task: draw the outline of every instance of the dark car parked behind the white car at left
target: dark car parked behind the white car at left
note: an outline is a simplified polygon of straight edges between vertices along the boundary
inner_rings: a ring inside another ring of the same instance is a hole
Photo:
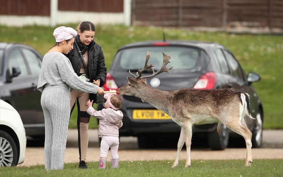
[[[24,44],[0,42],[0,99],[20,114],[26,136],[44,141],[44,115],[37,83],[42,55]]]

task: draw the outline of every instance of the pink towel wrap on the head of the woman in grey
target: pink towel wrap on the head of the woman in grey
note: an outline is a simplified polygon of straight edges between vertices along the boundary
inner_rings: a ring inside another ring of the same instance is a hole
[[[54,30],[53,36],[56,42],[62,42],[64,39],[68,40],[76,36],[78,33],[71,27],[60,26]]]

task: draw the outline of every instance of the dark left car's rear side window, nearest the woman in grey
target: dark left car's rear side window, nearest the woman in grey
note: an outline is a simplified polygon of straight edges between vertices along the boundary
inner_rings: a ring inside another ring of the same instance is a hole
[[[22,51],[26,57],[27,64],[30,67],[31,74],[39,74],[42,64],[40,58],[30,49],[22,48]]]

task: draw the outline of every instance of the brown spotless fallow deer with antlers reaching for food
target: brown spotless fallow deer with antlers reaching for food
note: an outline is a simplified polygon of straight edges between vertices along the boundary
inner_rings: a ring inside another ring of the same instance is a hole
[[[186,143],[187,160],[185,167],[191,166],[191,138],[192,126],[208,123],[217,123],[217,131],[220,133],[220,125],[224,124],[229,129],[242,135],[246,141],[247,156],[245,166],[253,162],[251,154],[252,133],[247,128],[245,116],[250,115],[250,96],[233,88],[227,89],[188,89],[182,88],[172,92],[161,91],[147,85],[146,79],[156,76],[159,73],[167,72],[173,68],[167,68],[170,63],[169,55],[163,53],[163,64],[160,70],[154,71],[154,65],[148,65],[149,52],[146,55],[145,66],[142,70],[138,68],[134,77],[127,77],[129,83],[118,89],[121,95],[133,95],[147,102],[158,110],[167,113],[174,122],[181,126],[181,133],[177,145],[177,154],[173,167],[178,166],[180,151]],[[142,76],[145,70],[152,70],[150,76]],[[172,83],[174,84],[174,83]]]

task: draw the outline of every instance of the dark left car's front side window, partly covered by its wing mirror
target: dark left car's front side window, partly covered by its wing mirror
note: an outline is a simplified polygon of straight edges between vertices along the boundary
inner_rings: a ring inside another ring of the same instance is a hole
[[[8,67],[9,67],[10,74],[12,74],[12,67],[19,67],[21,70],[21,73],[19,74],[19,76],[28,75],[28,71],[26,68],[26,64],[24,62],[23,55],[20,53],[19,49],[14,49],[11,51]]]

